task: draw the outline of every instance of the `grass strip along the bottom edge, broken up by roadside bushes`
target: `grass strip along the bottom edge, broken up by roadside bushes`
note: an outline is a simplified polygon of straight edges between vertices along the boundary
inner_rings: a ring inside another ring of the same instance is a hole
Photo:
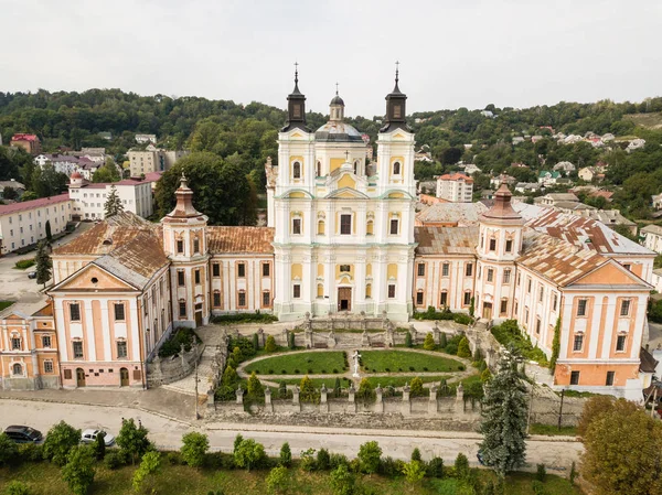
[[[90,495],[124,495],[135,494],[131,477],[136,467],[127,466],[108,471],[98,465]],[[158,493],[159,495],[207,495],[210,491],[223,491],[225,495],[264,495],[265,478],[268,471],[226,471],[214,469],[194,470],[182,465],[170,465],[166,460],[154,475],[148,476],[141,493]],[[298,469],[289,470],[289,487],[287,494],[331,495],[329,473],[305,473]],[[494,475],[485,470],[478,471],[481,478],[492,478]],[[534,495],[533,474],[516,474],[505,478],[505,493],[509,495]],[[0,469],[0,493],[13,480],[29,485],[31,495],[52,495],[71,493],[62,481],[60,469],[47,462],[25,463],[19,467]],[[463,495],[468,492],[453,478],[424,480],[417,485],[409,485],[403,476],[386,478],[378,475],[359,476],[357,484],[371,488],[370,493],[380,495]],[[152,492],[153,489],[153,492]],[[362,492],[360,492],[362,493]],[[581,492],[569,484],[567,480],[547,475],[545,482],[547,495],[580,495]]]

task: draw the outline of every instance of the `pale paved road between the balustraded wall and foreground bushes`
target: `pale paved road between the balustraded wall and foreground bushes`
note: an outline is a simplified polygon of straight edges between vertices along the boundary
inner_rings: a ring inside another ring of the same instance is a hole
[[[140,420],[150,430],[150,439],[162,449],[179,449],[183,433],[203,431],[210,438],[213,450],[231,451],[235,435],[241,432],[265,445],[269,454],[277,454],[282,442],[289,442],[292,453],[312,448],[327,448],[330,452],[355,456],[359,446],[371,440],[380,442],[384,455],[395,459],[409,459],[415,446],[420,449],[424,459],[438,455],[451,463],[459,452],[470,461],[476,460],[480,435],[476,433],[405,431],[405,430],[344,430],[331,428],[286,427],[270,424],[210,423],[191,427],[185,422],[173,421],[149,412],[131,408],[82,406],[22,400],[0,400],[0,427],[28,423],[42,432],[64,419],[76,428],[103,428],[117,434],[121,418]],[[578,461],[581,444],[574,441],[540,440],[528,441],[531,466],[544,463],[548,469],[568,469]]]

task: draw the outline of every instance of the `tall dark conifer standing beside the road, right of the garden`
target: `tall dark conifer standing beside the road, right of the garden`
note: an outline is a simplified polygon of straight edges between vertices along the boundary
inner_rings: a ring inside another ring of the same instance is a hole
[[[480,444],[484,463],[501,476],[524,464],[526,456],[526,387],[517,373],[520,356],[510,346],[496,375],[485,383]]]

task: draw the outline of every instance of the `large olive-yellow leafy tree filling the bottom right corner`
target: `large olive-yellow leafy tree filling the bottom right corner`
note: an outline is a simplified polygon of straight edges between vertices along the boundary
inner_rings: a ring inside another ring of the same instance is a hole
[[[592,416],[581,476],[607,495],[662,493],[662,423],[626,399]]]

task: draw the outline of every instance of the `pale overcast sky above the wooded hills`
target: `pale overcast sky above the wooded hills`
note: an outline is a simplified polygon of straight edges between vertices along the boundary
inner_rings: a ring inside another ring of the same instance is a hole
[[[383,115],[660,96],[660,0],[0,0],[0,92],[120,88]]]

